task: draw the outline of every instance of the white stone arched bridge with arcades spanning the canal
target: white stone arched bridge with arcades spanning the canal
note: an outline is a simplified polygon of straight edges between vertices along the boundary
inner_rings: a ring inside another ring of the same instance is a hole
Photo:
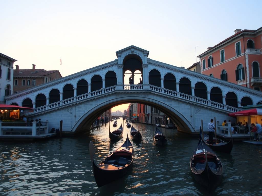
[[[49,129],[83,131],[107,109],[124,103],[151,105],[167,114],[178,130],[195,132],[203,119],[230,119],[228,113],[262,101],[262,94],[224,80],[148,58],[129,46],[117,59],[70,76],[6,96],[6,104],[32,107],[26,116],[49,121]],[[139,73],[141,84],[125,84]],[[233,120],[233,119],[232,119]],[[204,126],[205,128],[206,126]]]

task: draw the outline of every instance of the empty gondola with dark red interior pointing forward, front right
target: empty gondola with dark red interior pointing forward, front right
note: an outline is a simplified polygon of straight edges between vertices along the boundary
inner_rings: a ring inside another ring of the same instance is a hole
[[[203,142],[201,135],[200,128],[200,138],[190,160],[190,169],[197,182],[212,190],[222,179],[223,166],[217,155]]]

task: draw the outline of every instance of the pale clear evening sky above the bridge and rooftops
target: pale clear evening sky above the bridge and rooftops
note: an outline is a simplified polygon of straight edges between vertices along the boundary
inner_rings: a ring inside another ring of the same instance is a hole
[[[262,1],[0,0],[0,4],[0,53],[18,60],[15,65],[20,69],[35,64],[36,69],[59,70],[62,76],[113,61],[116,51],[130,45],[150,51],[151,59],[187,68],[196,62],[196,55],[235,29],[262,26]]]

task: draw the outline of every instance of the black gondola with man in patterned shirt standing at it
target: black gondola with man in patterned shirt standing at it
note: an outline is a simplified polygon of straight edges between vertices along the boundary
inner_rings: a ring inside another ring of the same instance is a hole
[[[231,137],[229,142],[225,142],[220,139],[213,139],[213,145],[209,144],[209,136],[204,134],[204,139],[201,138],[203,142],[210,147],[213,151],[231,153],[233,148],[233,138]]]

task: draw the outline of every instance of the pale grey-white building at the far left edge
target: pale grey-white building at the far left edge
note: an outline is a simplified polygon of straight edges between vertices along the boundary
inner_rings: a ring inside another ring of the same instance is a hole
[[[15,61],[17,60],[0,53],[0,103],[2,104],[6,103],[4,96],[12,94]]]

